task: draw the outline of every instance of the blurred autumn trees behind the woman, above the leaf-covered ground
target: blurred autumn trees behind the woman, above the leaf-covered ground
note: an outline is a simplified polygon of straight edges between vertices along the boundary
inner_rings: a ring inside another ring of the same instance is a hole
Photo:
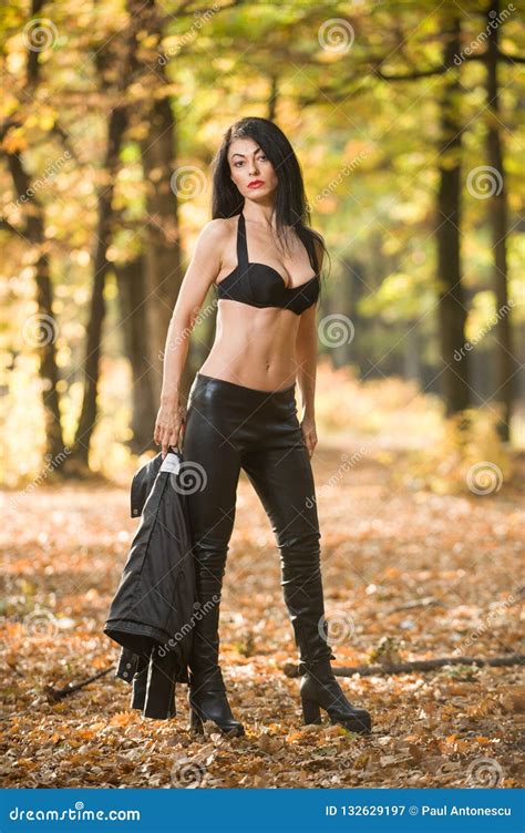
[[[3,6],[7,485],[110,475],[156,450],[162,351],[210,218],[210,162],[250,114],[290,137],[329,246],[321,430],[361,411],[364,433],[395,424],[395,442],[445,455],[459,436],[456,460],[474,442],[507,473],[525,393],[523,29],[513,3],[463,7]],[[187,388],[214,335],[206,309]]]

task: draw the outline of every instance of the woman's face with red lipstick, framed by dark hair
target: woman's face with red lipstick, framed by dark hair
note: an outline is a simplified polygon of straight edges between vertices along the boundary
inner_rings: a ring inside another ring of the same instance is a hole
[[[274,165],[253,138],[236,138],[228,148],[233,182],[246,199],[262,200],[277,188]]]

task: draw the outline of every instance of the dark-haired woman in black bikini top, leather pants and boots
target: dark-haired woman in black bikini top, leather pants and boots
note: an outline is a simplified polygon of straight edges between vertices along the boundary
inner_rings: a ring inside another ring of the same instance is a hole
[[[212,720],[223,732],[244,733],[218,665],[220,590],[244,469],[280,552],[305,722],[321,722],[322,707],[332,723],[370,731],[370,714],[351,706],[333,676],[325,620],[310,464],[325,245],[305,225],[309,213],[299,163],[272,122],[243,119],[229,127],[214,171],[214,219],[200,232],[169,323],[154,432],[163,455],[183,440],[183,465],[199,480],[187,493],[203,613],[189,659],[191,727],[202,731],[202,721]],[[185,409],[179,382],[188,335],[212,285],[218,296],[215,342]]]

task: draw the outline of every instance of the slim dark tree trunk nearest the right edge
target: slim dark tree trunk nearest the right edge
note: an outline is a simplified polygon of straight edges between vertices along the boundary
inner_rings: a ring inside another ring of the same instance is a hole
[[[487,24],[497,19],[500,2],[492,2],[487,13]],[[500,134],[500,85],[497,80],[497,40],[498,28],[487,25],[490,32],[486,51],[487,69],[487,105],[488,132],[487,155],[492,171],[491,196],[488,197],[488,214],[493,240],[494,256],[494,289],[496,295],[497,323],[495,326],[496,343],[496,394],[503,402],[503,414],[497,425],[500,436],[508,441],[511,436],[511,418],[514,399],[512,379],[515,372],[515,358],[512,343],[511,315],[507,288],[507,192],[505,172],[503,168],[503,151]]]

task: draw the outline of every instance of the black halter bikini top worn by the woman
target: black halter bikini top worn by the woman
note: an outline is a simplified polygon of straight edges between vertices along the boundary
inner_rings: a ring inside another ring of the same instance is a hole
[[[308,257],[316,269],[316,257],[307,246]],[[267,264],[248,263],[248,245],[244,214],[237,225],[237,266],[226,278],[215,284],[218,298],[248,304],[250,307],[281,307],[300,316],[319,297],[319,276],[316,272],[297,287],[287,287],[282,276]]]

